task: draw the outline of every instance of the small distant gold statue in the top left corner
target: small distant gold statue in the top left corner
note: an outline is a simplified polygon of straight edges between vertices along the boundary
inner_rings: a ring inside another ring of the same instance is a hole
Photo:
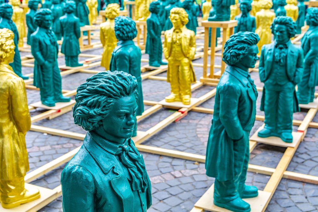
[[[25,14],[24,10],[20,8],[20,0],[10,0],[10,4],[12,5],[13,13],[12,13],[12,21],[17,26],[17,31],[19,33],[19,47],[23,47],[23,38],[25,37]]]

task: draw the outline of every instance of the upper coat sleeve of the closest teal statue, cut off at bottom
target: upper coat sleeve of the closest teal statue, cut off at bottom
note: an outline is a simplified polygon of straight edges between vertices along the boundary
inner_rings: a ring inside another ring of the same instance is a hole
[[[94,180],[84,167],[67,164],[61,174],[64,212],[95,211]]]

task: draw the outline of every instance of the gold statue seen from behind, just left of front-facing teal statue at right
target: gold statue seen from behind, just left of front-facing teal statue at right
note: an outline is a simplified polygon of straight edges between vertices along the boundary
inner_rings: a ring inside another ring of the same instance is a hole
[[[273,2],[271,0],[261,0],[259,1],[259,7],[261,10],[256,13],[256,30],[255,33],[259,35],[259,42],[257,47],[259,49],[259,54],[261,52],[262,46],[265,44],[270,44],[272,42],[272,31],[270,26],[275,18],[275,13],[271,9]]]

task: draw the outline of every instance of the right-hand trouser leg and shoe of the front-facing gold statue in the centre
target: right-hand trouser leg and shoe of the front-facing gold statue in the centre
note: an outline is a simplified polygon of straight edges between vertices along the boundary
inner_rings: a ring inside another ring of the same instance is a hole
[[[180,85],[180,96],[182,103],[185,105],[190,104],[191,98],[191,70],[190,70],[190,60],[188,58],[183,58],[179,67],[179,85]]]

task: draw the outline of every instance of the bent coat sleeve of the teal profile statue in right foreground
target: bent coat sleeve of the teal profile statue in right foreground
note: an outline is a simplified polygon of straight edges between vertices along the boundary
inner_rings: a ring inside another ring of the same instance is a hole
[[[228,82],[219,87],[218,93],[220,96],[220,121],[229,138],[239,140],[244,135],[238,114],[240,89],[237,85]]]

